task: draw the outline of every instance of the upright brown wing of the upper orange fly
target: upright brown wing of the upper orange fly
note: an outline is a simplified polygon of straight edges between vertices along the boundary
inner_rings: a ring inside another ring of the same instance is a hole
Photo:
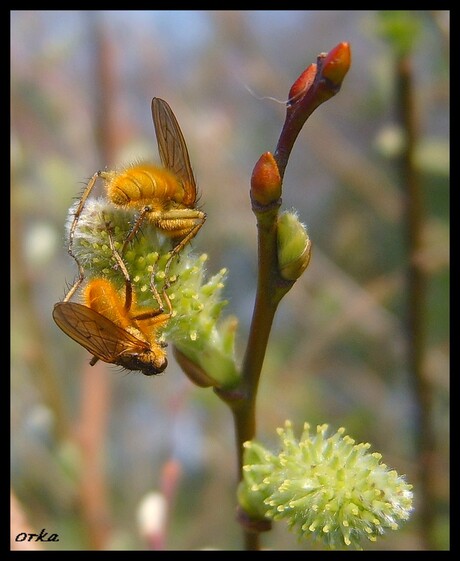
[[[187,206],[192,207],[197,198],[195,177],[184,135],[176,116],[166,101],[154,97],[152,99],[152,117],[161,163],[182,181]]]

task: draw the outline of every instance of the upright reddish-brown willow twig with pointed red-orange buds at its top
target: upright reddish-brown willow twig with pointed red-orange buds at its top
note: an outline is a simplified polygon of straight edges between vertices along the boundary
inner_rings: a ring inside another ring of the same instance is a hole
[[[286,119],[274,156],[269,152],[257,162],[251,180],[252,210],[257,219],[258,278],[248,342],[237,388],[216,390],[232,410],[238,470],[243,473],[244,443],[256,435],[256,398],[273,319],[281,299],[297,277],[280,273],[278,263],[278,211],[282,181],[295,140],[313,111],[339,90],[350,66],[350,49],[340,43],[328,54],[321,54],[289,92]],[[308,248],[309,249],[309,248]],[[309,260],[309,254],[308,254]],[[306,265],[305,265],[306,266]],[[303,272],[305,266],[300,270]],[[259,533],[270,529],[266,520],[240,515],[246,549],[259,549]]]

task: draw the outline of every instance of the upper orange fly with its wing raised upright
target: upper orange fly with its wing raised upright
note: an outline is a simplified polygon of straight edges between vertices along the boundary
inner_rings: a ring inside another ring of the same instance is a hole
[[[163,167],[145,163],[134,164],[121,171],[97,171],[90,179],[74,214],[69,232],[69,253],[72,256],[78,218],[99,177],[104,180],[107,197],[114,205],[139,212],[124,242],[122,254],[143,221],[147,220],[175,243],[169,265],[172,258],[203,226],[206,214],[195,208],[198,199],[196,183],[179,123],[166,101],[158,97],[152,99],[152,117]]]

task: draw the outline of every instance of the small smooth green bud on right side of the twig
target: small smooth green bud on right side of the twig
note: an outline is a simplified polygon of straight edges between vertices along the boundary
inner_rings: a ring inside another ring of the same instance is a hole
[[[283,212],[278,218],[278,266],[286,280],[295,281],[311,258],[311,241],[295,212]]]

